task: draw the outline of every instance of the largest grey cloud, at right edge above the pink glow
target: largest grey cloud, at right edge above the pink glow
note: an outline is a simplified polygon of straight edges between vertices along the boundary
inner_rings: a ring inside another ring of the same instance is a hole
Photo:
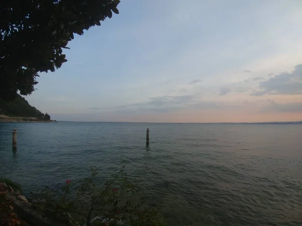
[[[302,64],[294,67],[291,73],[282,72],[259,83],[259,91],[251,95],[262,96],[265,94],[302,94]]]

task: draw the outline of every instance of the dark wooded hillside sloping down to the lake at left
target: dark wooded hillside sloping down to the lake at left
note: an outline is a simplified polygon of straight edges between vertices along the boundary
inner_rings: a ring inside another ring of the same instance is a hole
[[[50,121],[50,116],[47,113],[43,114],[40,110],[31,106],[27,100],[19,94],[17,94],[16,99],[9,102],[0,98],[0,116],[2,116],[2,119],[8,119],[8,117],[22,117],[28,119],[23,119],[21,121]]]

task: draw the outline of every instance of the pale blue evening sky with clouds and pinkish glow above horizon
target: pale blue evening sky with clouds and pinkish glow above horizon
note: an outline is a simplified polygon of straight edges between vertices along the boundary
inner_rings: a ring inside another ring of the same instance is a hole
[[[302,1],[121,0],[29,103],[58,121],[302,120]]]

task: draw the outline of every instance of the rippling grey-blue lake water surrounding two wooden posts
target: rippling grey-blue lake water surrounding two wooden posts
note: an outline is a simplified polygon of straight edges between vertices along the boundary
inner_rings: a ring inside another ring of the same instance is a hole
[[[25,194],[121,161],[170,225],[302,225],[302,125],[0,123],[0,175]]]

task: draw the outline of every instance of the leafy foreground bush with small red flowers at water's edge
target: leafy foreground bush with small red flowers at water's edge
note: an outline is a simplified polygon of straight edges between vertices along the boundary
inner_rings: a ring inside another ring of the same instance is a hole
[[[145,208],[133,202],[140,190],[139,183],[129,181],[124,166],[112,175],[104,186],[97,184],[97,168],[91,167],[91,176],[79,183],[66,180],[58,190],[46,187],[33,194],[33,204],[42,214],[68,225],[163,225],[154,208]]]

